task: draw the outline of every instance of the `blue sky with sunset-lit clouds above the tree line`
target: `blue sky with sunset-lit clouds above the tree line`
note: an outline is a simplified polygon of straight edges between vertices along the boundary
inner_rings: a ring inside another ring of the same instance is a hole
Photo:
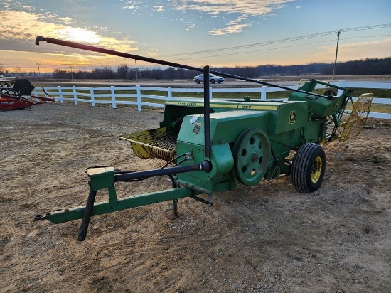
[[[391,57],[390,0],[0,0],[0,63],[13,71],[88,69],[134,60],[48,43],[92,44],[201,67]],[[155,66],[151,63],[137,65]]]

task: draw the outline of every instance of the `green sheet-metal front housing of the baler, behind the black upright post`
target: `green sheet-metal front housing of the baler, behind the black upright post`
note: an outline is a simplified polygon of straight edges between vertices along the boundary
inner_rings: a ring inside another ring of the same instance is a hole
[[[232,176],[234,158],[230,144],[240,133],[248,128],[269,128],[271,114],[264,111],[226,111],[210,114],[210,144],[213,169],[210,173],[192,171],[178,174],[177,181],[204,193],[218,191],[223,182],[229,189],[235,188]],[[204,157],[204,117],[203,114],[188,115],[183,119],[178,134],[177,154],[193,152],[194,161],[203,161]]]

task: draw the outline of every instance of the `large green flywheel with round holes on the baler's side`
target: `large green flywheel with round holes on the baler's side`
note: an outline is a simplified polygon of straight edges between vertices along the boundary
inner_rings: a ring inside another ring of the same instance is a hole
[[[237,181],[252,186],[262,180],[267,172],[270,143],[261,129],[245,129],[233,146],[234,176]]]

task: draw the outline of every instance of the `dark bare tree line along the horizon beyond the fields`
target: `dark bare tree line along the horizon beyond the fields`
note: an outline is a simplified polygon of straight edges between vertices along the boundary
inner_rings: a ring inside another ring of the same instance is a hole
[[[306,65],[258,65],[258,66],[235,66],[213,68],[213,70],[240,75],[246,78],[259,78],[273,75],[332,75],[333,64],[331,63],[309,63]],[[0,75],[9,73],[0,63]],[[93,70],[54,70],[53,78],[56,79],[120,79],[136,80],[183,80],[193,79],[198,72],[183,68],[136,68],[127,64],[118,65],[112,68],[108,65],[94,68]],[[337,63],[337,75],[390,75],[391,57],[389,58],[365,58]],[[14,68],[14,75],[23,75],[21,68]],[[33,76],[30,73],[30,76]]]

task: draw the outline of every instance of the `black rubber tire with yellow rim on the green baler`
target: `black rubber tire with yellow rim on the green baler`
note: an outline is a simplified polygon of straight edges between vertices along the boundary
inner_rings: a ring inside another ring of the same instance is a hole
[[[321,163],[320,167],[319,163]],[[321,187],[325,170],[326,154],[323,147],[309,142],[296,151],[292,163],[291,181],[297,191],[311,193]]]

